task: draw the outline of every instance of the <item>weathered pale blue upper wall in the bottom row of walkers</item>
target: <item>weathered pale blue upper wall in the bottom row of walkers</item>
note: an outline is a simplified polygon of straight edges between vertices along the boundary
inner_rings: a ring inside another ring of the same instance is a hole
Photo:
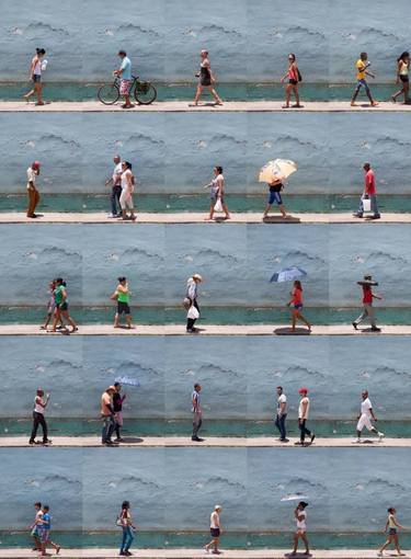
[[[377,459],[378,458],[378,459]],[[55,529],[114,529],[123,499],[140,529],[208,531],[224,506],[228,531],[294,529],[299,493],[310,503],[310,531],[380,532],[387,506],[411,515],[409,448],[10,449],[3,466],[0,528],[26,528],[38,499]],[[33,467],[35,465],[35,468]],[[372,511],[372,512],[370,512]],[[358,518],[362,518],[358,526]]]

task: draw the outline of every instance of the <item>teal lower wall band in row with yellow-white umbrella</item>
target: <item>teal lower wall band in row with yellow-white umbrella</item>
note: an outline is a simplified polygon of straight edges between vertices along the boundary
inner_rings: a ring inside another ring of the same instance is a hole
[[[355,212],[358,207],[359,194],[340,196],[284,194],[283,199],[287,210],[292,213],[335,214]],[[261,212],[262,214],[266,196],[229,194],[226,201],[231,212]],[[0,194],[0,212],[25,212],[26,202],[24,194]],[[151,213],[202,212],[206,214],[209,209],[209,199],[206,196],[191,194],[136,194],[135,204],[139,212]],[[378,205],[381,213],[411,213],[411,196],[381,195],[378,196]],[[110,197],[103,194],[43,194],[37,213],[106,212],[109,214],[110,207]]]

